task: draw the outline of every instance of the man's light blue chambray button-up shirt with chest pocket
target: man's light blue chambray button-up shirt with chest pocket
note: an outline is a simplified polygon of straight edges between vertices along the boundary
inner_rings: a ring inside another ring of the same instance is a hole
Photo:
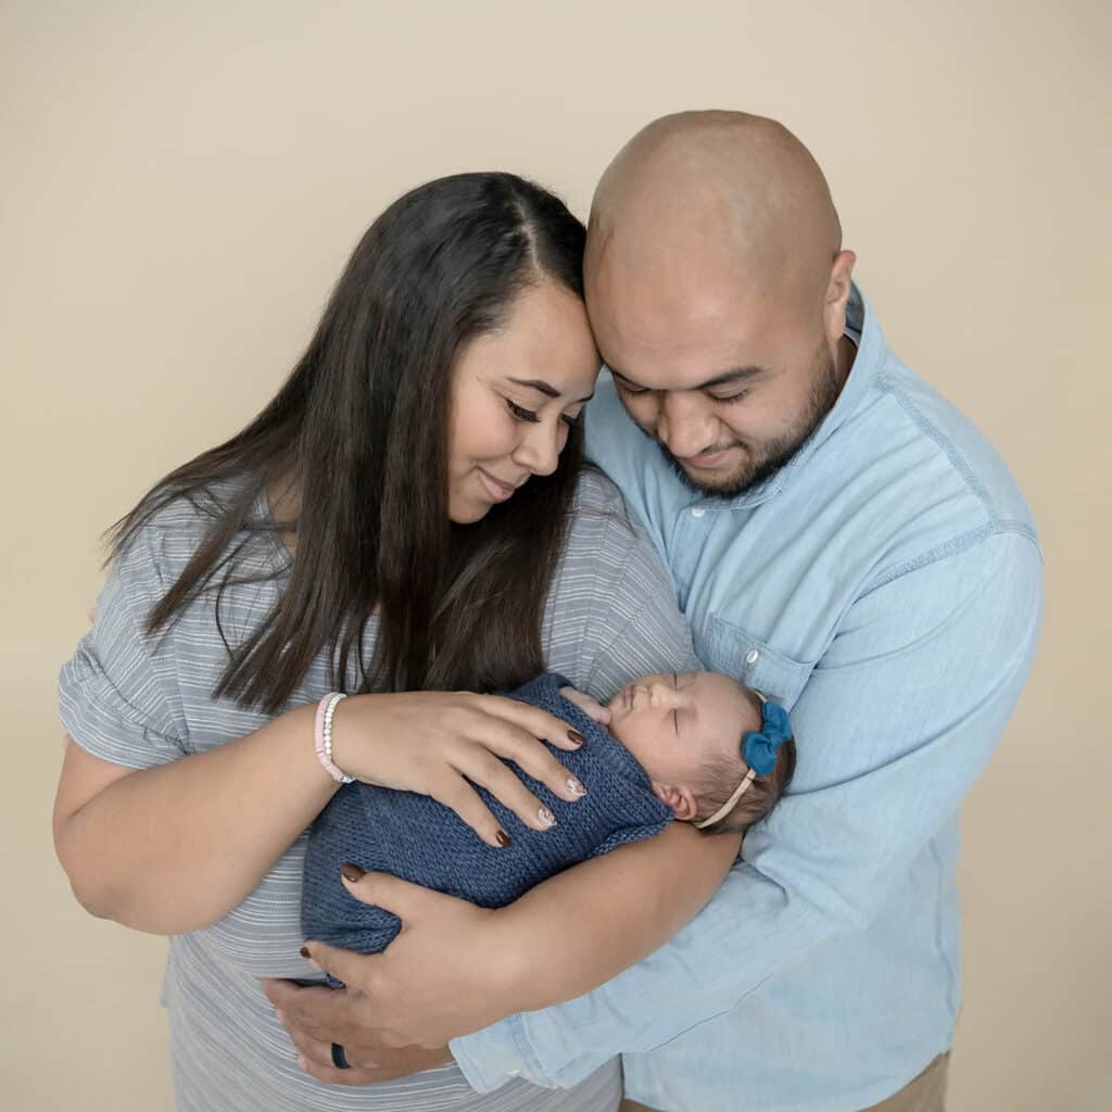
[[[453,1042],[479,1090],[622,1052],[667,1112],[848,1112],[945,1051],[961,1000],[957,810],[1035,649],[1042,557],[983,436],[854,289],[853,369],[762,486],[685,487],[604,381],[588,448],[647,523],[707,667],[792,709],[790,794],[696,919],[569,1003]]]

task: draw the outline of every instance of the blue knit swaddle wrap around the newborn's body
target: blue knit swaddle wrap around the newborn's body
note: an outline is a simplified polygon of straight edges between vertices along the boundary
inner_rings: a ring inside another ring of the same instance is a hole
[[[309,833],[301,896],[306,940],[359,953],[385,950],[400,930],[388,911],[351,896],[340,867],[351,862],[368,871],[393,873],[481,907],[503,907],[568,865],[627,842],[659,834],[672,821],[645,771],[628,751],[575,704],[559,694],[563,676],[547,673],[512,694],[563,718],[587,742],[575,752],[550,748],[586,786],[575,803],[553,795],[520,772],[528,788],[556,815],[556,825],[535,831],[489,792],[477,787],[510,844],[487,845],[454,811],[427,795],[346,784],[317,816]]]

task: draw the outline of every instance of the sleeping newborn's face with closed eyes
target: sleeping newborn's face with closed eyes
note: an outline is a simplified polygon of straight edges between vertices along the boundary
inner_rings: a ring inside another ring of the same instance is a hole
[[[688,784],[714,752],[741,767],[742,735],[761,728],[741,685],[715,672],[642,676],[608,709],[610,733],[654,784]]]

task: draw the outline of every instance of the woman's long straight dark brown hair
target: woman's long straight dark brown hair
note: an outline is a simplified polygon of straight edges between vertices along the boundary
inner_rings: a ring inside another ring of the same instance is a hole
[[[187,498],[205,538],[148,617],[166,626],[237,578],[252,536],[296,534],[286,588],[214,695],[275,713],[330,649],[348,691],[510,687],[543,671],[540,624],[582,461],[572,428],[556,470],[474,525],[448,518],[450,371],[538,281],[583,296],[585,231],[550,193],[509,173],[414,189],[367,230],[286,385],[241,433],[177,468],[109,533],[112,553]],[[259,494],[291,480],[298,509],[260,519]],[[227,495],[225,492],[232,493]],[[278,574],[282,574],[282,569]],[[374,659],[364,633],[374,610]],[[221,631],[222,636],[222,631]]]

